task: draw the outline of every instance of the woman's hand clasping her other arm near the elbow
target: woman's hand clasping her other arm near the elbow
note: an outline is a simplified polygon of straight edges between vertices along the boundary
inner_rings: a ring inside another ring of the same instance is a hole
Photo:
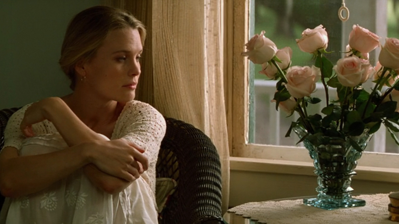
[[[101,171],[126,181],[134,181],[148,169],[144,149],[123,138],[111,141],[90,141],[91,163]]]

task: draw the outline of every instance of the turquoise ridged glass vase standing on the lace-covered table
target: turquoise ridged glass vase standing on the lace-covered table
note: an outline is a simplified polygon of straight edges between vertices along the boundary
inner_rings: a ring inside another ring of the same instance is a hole
[[[294,132],[302,139],[307,132],[302,127],[293,128]],[[356,175],[354,169],[362,151],[367,146],[371,135],[362,134],[343,138],[323,136],[325,144],[316,147],[310,141],[304,140],[317,175],[318,193],[316,198],[304,199],[303,203],[327,210],[337,208],[350,208],[364,206],[365,200],[352,198],[352,176]],[[350,141],[358,143],[362,150],[356,150]]]

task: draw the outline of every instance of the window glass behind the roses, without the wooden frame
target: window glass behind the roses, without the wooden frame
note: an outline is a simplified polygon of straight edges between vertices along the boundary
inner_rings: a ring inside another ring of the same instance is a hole
[[[363,1],[363,5],[370,8],[373,1]],[[285,1],[271,1],[271,0],[255,0],[255,10],[251,12],[251,28],[255,33],[260,33],[262,29],[267,30],[267,37],[272,39],[279,48],[290,46],[293,51],[292,65],[312,65],[313,61],[311,55],[299,51],[295,38],[299,38],[301,33],[306,28],[314,28],[323,24],[324,28],[328,31],[329,44],[327,51],[334,51],[327,55],[329,59],[335,63],[340,59],[342,53],[337,49],[345,51],[346,44],[348,43],[348,31],[352,29],[353,23],[350,22],[356,16],[356,10],[351,6],[356,6],[356,1],[348,1],[348,7],[351,10],[351,20],[346,23],[341,23],[338,19],[337,12],[340,8],[342,0],[331,0],[323,2],[319,0],[285,0]],[[355,4],[354,4],[355,3]],[[359,3],[359,2],[358,2]],[[382,15],[388,15],[387,19],[376,21],[376,17],[362,17],[360,26],[369,28],[377,32],[381,37],[398,37],[394,10],[394,1],[389,0],[387,6],[376,8],[374,11]],[[359,6],[357,6],[359,7]],[[294,10],[295,9],[295,10]],[[352,18],[354,17],[354,18]],[[385,30],[376,30],[375,27],[368,27],[368,24],[377,22],[379,27],[387,27]],[[364,25],[363,25],[364,24]],[[387,25],[386,25],[387,24]],[[388,31],[388,33],[387,33]],[[250,31],[251,34],[253,34]],[[383,41],[383,39],[381,40]],[[373,52],[371,63],[374,64],[375,52]],[[253,99],[250,100],[251,108],[249,110],[249,142],[271,145],[296,145],[298,137],[294,134],[290,138],[285,138],[285,132],[288,130],[291,121],[297,119],[297,114],[286,118],[286,114],[281,111],[275,110],[275,103],[271,102],[275,91],[275,82],[265,80],[265,76],[258,74],[257,71],[261,70],[261,66],[253,64],[250,65],[250,77],[255,77],[255,80],[250,81],[250,93]],[[368,83],[371,86],[371,80]],[[318,85],[318,91],[313,96],[324,98],[322,85]],[[334,94],[334,90],[330,95]],[[320,106],[320,105],[316,105]],[[313,108],[319,111],[319,108]],[[264,116],[269,114],[269,116]],[[275,128],[270,128],[275,127]],[[377,141],[378,140],[378,141]],[[366,151],[379,151],[379,152],[399,152],[399,147],[395,144],[389,134],[386,134],[384,128],[379,132],[368,144]]]

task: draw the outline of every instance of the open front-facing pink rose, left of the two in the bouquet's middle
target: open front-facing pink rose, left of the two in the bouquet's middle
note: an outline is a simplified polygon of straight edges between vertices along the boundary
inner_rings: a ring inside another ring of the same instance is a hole
[[[318,67],[292,66],[288,68],[285,84],[288,92],[295,98],[310,96],[316,89],[316,82],[320,79],[321,72]]]

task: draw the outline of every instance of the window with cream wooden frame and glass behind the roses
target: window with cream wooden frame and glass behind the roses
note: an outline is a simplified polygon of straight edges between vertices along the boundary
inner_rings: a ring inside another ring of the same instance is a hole
[[[230,61],[227,63],[227,74],[233,74],[232,77],[227,77],[226,82],[229,96],[227,101],[227,108],[229,108],[227,116],[230,119],[229,136],[232,136],[231,155],[278,161],[311,162],[306,149],[295,146],[297,139],[287,140],[284,137],[287,130],[284,122],[290,124],[290,120],[285,119],[284,113],[277,113],[275,106],[270,103],[268,94],[270,95],[271,91],[274,93],[275,85],[271,81],[264,81],[264,77],[249,75],[249,73],[258,73],[260,69],[253,67],[247,58],[241,56],[241,52],[244,50],[244,44],[254,33],[260,33],[265,29],[266,35],[275,41],[279,48],[286,46],[279,42],[284,41],[284,38],[279,37],[276,41],[273,35],[280,35],[280,33],[292,35],[285,38],[292,41],[291,47],[294,55],[297,56],[292,61],[297,65],[306,65],[307,62],[312,63],[309,61],[310,56],[308,54],[300,56],[300,51],[294,41],[306,28],[323,24],[328,29],[330,37],[328,50],[343,49],[346,46],[344,43],[348,41],[353,24],[359,24],[374,31],[382,37],[382,42],[387,35],[398,38],[398,31],[390,29],[396,28],[397,23],[395,14],[392,13],[395,2],[395,0],[347,0],[346,6],[350,10],[350,20],[342,23],[338,19],[341,0],[227,1],[226,58]],[[301,10],[302,14],[299,12]],[[386,25],[381,26],[381,24],[387,24],[388,18],[389,21],[393,21],[388,25],[389,29]],[[254,19],[255,23],[253,23]],[[262,26],[257,25],[257,20],[264,21]],[[280,25],[277,25],[278,23]],[[282,28],[276,29],[276,27]],[[388,34],[387,30],[389,30]],[[373,58],[378,53],[378,51],[373,51],[370,55],[372,63],[375,63]],[[340,53],[336,52],[330,59],[336,61],[340,57]],[[380,152],[381,147],[375,146],[389,145],[391,141],[389,135],[381,133],[376,134],[373,139],[374,141],[369,143],[369,147],[372,146],[373,149],[367,149],[369,151]],[[384,147],[383,152],[385,151],[396,152],[397,146],[387,147],[387,150]],[[365,152],[361,161],[359,163],[362,166],[399,168],[397,154]]]

